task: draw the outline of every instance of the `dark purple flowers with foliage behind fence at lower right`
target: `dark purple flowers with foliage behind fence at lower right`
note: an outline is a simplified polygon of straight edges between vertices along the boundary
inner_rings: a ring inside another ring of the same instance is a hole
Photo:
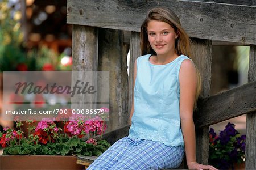
[[[234,127],[228,123],[218,136],[212,128],[209,131],[209,164],[218,169],[234,169],[234,165],[244,163],[246,137]]]

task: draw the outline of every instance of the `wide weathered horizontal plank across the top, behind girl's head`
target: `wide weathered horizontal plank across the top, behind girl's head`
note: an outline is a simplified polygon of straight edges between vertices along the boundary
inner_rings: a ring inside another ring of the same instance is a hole
[[[139,32],[148,8],[167,6],[189,36],[256,44],[255,6],[200,1],[68,0],[67,23]]]

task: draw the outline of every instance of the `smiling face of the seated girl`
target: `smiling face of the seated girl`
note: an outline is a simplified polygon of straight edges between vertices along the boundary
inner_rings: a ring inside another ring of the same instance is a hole
[[[175,39],[178,37],[171,25],[151,20],[147,24],[148,41],[157,55],[172,56],[175,54]]]

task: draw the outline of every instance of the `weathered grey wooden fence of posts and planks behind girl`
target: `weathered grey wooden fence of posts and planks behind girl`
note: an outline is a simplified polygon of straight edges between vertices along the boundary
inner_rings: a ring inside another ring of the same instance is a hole
[[[192,38],[203,99],[195,113],[197,161],[208,163],[209,125],[247,114],[246,169],[256,168],[256,2],[183,0],[68,0],[67,23],[73,24],[73,70],[110,71],[112,142],[127,134],[133,63],[140,56],[139,28],[148,8],[168,6]],[[224,42],[223,42],[224,41]],[[212,43],[250,46],[248,84],[209,96]],[[126,56],[130,50],[130,78]],[[129,84],[129,85],[128,85]],[[128,99],[128,100],[127,100]],[[81,105],[82,108],[82,105]],[[118,129],[118,130],[116,130]]]

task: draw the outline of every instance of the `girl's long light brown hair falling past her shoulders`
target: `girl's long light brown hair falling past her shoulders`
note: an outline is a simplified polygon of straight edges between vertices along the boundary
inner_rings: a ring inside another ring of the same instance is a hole
[[[183,54],[193,59],[192,52],[191,52],[192,42],[189,39],[189,36],[187,35],[187,33],[181,27],[180,20],[175,14],[175,12],[168,7],[154,7],[148,10],[146,18],[144,19],[144,22],[141,25],[140,37],[141,37],[141,54],[142,55],[156,54],[154,49],[152,49],[152,47],[150,46],[150,43],[148,41],[148,35],[147,35],[147,24],[151,20],[158,20],[160,22],[165,22],[171,25],[171,27],[174,28],[174,31],[177,33],[177,35],[179,35],[175,41],[176,53],[179,56]],[[197,89],[196,89],[194,109],[196,109],[197,99],[201,91],[201,77],[197,68],[196,68],[196,72],[197,72]]]

